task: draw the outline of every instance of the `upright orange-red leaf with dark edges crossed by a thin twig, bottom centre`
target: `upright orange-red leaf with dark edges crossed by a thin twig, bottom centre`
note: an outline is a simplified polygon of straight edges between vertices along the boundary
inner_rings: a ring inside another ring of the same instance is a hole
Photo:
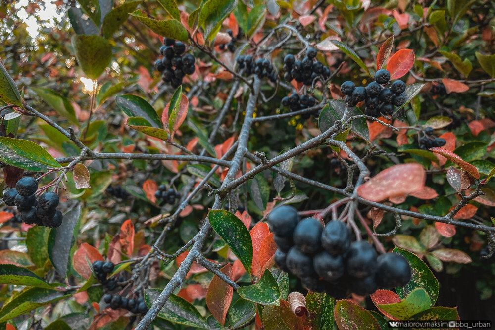
[[[229,278],[232,276],[232,266],[230,264],[225,265],[220,271]],[[233,292],[234,289],[232,286],[220,279],[218,275],[213,276],[208,286],[206,305],[211,314],[222,326],[225,324],[225,317],[232,301]]]

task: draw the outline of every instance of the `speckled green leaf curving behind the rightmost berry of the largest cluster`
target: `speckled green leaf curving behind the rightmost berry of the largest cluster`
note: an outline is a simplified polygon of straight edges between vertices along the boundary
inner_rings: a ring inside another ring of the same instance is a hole
[[[431,306],[435,305],[438,297],[439,285],[430,268],[428,268],[428,266],[414,253],[402,250],[398,247],[394,248],[394,252],[402,254],[407,261],[409,261],[409,264],[411,264],[412,270],[411,281],[403,287],[396,288],[399,297],[403,299],[414,289],[421,287],[430,295]]]

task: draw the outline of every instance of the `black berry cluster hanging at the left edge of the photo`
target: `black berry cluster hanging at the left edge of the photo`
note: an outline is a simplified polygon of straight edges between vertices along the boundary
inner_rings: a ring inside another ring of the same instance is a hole
[[[58,195],[48,191],[36,200],[38,181],[31,177],[19,179],[14,189],[3,194],[3,201],[8,206],[16,206],[25,224],[36,224],[45,227],[60,227],[63,215],[57,210]]]

